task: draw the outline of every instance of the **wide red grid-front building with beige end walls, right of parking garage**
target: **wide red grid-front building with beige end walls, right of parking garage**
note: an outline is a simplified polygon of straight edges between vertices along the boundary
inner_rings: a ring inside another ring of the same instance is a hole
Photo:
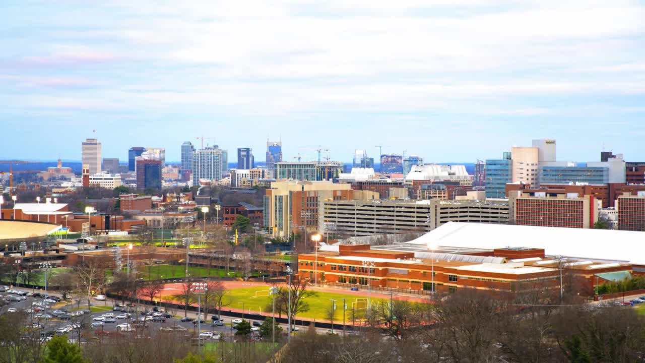
[[[570,193],[555,198],[546,194],[511,196],[509,203],[517,225],[593,228],[598,221],[598,202],[593,196]]]

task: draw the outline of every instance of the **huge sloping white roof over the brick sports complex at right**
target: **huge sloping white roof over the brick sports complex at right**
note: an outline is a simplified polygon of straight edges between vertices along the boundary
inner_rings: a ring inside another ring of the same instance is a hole
[[[645,265],[645,233],[608,229],[448,222],[408,244],[496,249],[544,248],[548,255]]]

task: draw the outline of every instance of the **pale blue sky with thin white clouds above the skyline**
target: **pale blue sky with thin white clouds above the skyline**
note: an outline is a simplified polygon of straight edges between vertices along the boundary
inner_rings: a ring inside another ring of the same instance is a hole
[[[0,1],[0,159],[645,161],[645,1]],[[94,132],[93,132],[94,130]],[[213,140],[204,140],[212,145]],[[320,145],[320,146],[319,146]]]

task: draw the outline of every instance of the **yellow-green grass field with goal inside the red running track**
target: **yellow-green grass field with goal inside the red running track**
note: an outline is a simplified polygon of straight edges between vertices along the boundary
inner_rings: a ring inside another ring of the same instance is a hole
[[[248,312],[249,309],[251,310],[251,313],[256,313],[257,311],[268,312],[268,311],[264,311],[264,308],[268,307],[268,304],[270,304],[271,302],[271,298],[269,296],[266,296],[267,290],[268,290],[268,287],[248,287],[244,289],[229,290],[230,293],[227,296],[232,301],[231,301],[231,304],[224,307],[224,309],[228,309],[228,308],[242,309],[242,303],[244,303],[244,311],[246,312]],[[255,297],[256,291],[264,291],[264,296],[258,296],[256,298]],[[303,300],[309,304],[310,309],[306,313],[299,314],[298,316],[303,318],[315,318],[315,319],[321,319],[321,320],[328,320],[328,316],[326,316],[327,315],[326,310],[332,306],[332,302],[330,299],[334,299],[334,300],[337,300],[336,301],[336,310],[337,310],[336,319],[339,319],[339,321],[342,321],[342,299],[343,298],[346,299],[346,304],[347,304],[347,309],[345,311],[346,321],[350,320],[350,310],[352,309],[353,302],[357,302],[357,299],[362,299],[363,301],[362,304],[359,302],[358,304],[353,304],[353,306],[357,308],[360,305],[362,305],[362,307],[366,306],[367,296],[345,295],[345,294],[338,294],[338,293],[317,293],[316,296],[312,296],[310,298]],[[381,298],[372,298],[370,300],[372,304],[375,304],[376,302],[385,301],[384,299],[381,299]]]

